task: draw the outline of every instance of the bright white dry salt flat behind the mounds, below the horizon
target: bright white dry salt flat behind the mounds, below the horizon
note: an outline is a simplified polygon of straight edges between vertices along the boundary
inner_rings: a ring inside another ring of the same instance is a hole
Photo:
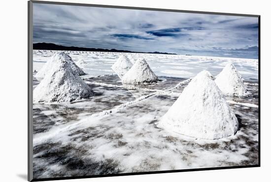
[[[54,52],[43,50],[38,52],[34,50],[33,69],[38,71]],[[120,55],[127,55],[128,58],[135,60],[144,58],[157,76],[190,78],[196,76],[204,69],[209,71],[213,76],[216,76],[227,63],[233,63],[245,80],[258,79],[258,60],[254,59],[139,53],[81,53],[81,51],[66,51],[66,53],[75,62],[80,59],[87,62],[87,64],[81,65],[81,67],[84,72],[94,76],[114,73],[111,69],[113,63]]]

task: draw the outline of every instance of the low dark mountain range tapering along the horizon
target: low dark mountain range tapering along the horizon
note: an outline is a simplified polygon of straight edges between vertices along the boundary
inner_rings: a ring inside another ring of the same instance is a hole
[[[149,54],[168,54],[176,55],[172,53],[160,53],[160,52],[134,52],[126,50],[117,50],[117,49],[101,49],[101,48],[86,48],[86,47],[67,47],[62,45],[57,45],[53,43],[34,43],[33,49],[35,50],[56,50],[56,51],[97,51],[97,52],[118,52],[118,53],[149,53]]]

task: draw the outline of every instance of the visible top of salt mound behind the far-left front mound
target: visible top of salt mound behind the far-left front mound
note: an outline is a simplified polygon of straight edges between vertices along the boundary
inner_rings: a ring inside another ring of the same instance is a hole
[[[84,71],[79,68],[74,61],[72,61],[72,59],[70,58],[70,56],[68,56],[67,54],[65,54],[64,52],[56,52],[44,65],[43,67],[37,72],[37,74],[35,75],[35,77],[38,80],[42,80],[44,78],[44,76],[53,68],[55,67],[55,63],[58,61],[64,61],[66,60],[67,63],[69,64],[69,67],[71,68],[72,72],[77,73],[78,75],[85,75],[86,73],[84,73]]]

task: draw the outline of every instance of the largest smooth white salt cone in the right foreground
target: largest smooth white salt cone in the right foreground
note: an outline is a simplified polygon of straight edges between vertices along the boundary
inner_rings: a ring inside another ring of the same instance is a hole
[[[208,71],[191,80],[158,127],[190,137],[218,139],[234,135],[238,121]]]

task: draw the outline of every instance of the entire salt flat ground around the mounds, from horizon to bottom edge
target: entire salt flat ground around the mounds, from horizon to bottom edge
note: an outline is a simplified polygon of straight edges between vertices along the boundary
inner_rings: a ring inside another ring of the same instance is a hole
[[[53,52],[34,51],[34,70]],[[88,73],[81,78],[95,95],[71,103],[34,103],[34,178],[258,164],[257,60],[126,54],[144,58],[160,79],[133,85],[122,84],[110,68],[124,53],[68,54],[75,63],[86,62],[78,64]],[[226,96],[239,121],[234,136],[203,140],[157,127],[189,78],[204,69],[216,76],[228,62],[248,89],[242,97]],[[39,84],[35,77],[33,83]]]

